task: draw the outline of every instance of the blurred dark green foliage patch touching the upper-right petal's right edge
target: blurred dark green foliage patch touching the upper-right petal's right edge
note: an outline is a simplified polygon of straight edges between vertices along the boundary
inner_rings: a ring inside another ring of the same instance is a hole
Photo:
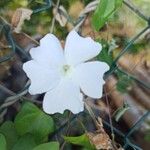
[[[97,59],[99,61],[106,62],[109,66],[111,66],[113,62],[113,56],[112,52],[109,52],[109,44],[104,40],[100,41],[100,43],[102,44],[102,51],[97,56]]]

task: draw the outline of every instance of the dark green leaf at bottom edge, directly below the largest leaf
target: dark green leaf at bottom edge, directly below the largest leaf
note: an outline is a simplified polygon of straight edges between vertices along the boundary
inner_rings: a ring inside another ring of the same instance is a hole
[[[34,137],[26,134],[17,141],[12,150],[33,150],[36,145]]]

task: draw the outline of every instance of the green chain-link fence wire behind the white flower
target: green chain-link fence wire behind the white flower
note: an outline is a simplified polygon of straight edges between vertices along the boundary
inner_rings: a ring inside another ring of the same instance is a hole
[[[47,9],[49,9],[52,6],[56,6],[51,0],[45,0],[45,5],[33,10],[34,14],[40,13],[41,11],[45,11]],[[64,17],[67,18],[67,20],[69,22],[71,22],[74,25],[74,28],[79,31],[80,27],[82,26],[83,22],[85,21],[87,15],[94,11],[97,4],[99,3],[99,0],[96,1],[92,1],[90,2],[85,8],[84,10],[80,13],[79,18],[77,19],[76,22],[73,22],[71,17],[64,13],[61,12],[62,10],[59,10],[59,8],[57,7],[57,9],[62,13],[62,15],[64,15]],[[146,23],[147,26],[137,35],[135,35],[130,41],[129,43],[122,49],[122,51],[119,53],[119,55],[114,59],[110,70],[104,75],[104,78],[107,79],[110,75],[114,74],[116,71],[120,71],[121,73],[129,76],[131,79],[133,79],[135,82],[137,82],[138,84],[140,84],[141,86],[144,86],[147,89],[150,89],[150,85],[148,85],[147,83],[139,80],[137,77],[129,74],[128,72],[126,72],[125,70],[123,70],[119,65],[118,65],[118,60],[126,53],[129,51],[130,46],[142,35],[144,34],[146,31],[148,31],[148,29],[150,28],[150,17],[147,17],[146,15],[144,15],[142,13],[142,11],[140,11],[138,8],[136,8],[135,6],[133,6],[131,3],[129,3],[129,1],[123,1],[123,4],[126,5],[128,8],[130,8],[132,10],[133,13],[137,14],[140,18],[142,18]],[[0,63],[3,63],[5,61],[10,60],[17,51],[19,51],[23,56],[24,59],[29,60],[30,56],[29,54],[23,49],[21,48],[18,43],[16,43],[13,34],[12,34],[12,28],[11,25],[8,24],[2,17],[0,18],[0,29],[1,32],[4,33],[5,38],[8,42],[9,47],[11,48],[11,52],[9,54],[7,54],[6,56],[0,57]],[[24,89],[22,89],[20,92],[15,93],[13,91],[11,91],[10,89],[8,89],[7,87],[3,86],[2,84],[0,84],[0,89],[7,92],[10,96],[6,98],[6,100],[1,104],[0,106],[0,117],[2,118],[6,112],[7,112],[7,107],[14,104],[16,101],[18,101],[23,95],[25,95],[27,93],[27,89],[29,86],[29,82],[27,82],[27,84],[25,85]],[[147,111],[134,125],[133,127],[130,128],[130,130],[127,132],[127,134],[123,134],[120,130],[116,129],[115,127],[113,127],[113,131],[120,135],[123,139],[124,139],[124,149],[135,149],[135,150],[141,150],[141,148],[139,146],[137,146],[136,144],[134,144],[132,142],[132,138],[131,135],[136,131],[136,129],[139,128],[139,126],[144,122],[144,120],[149,116],[150,111]],[[74,115],[71,119],[70,122],[73,121],[75,118],[77,117],[77,115]],[[64,128],[66,126],[67,122],[64,123],[63,126],[61,126],[56,132],[59,132],[60,130],[62,130],[62,128]],[[111,128],[110,124],[106,121],[104,121],[104,124],[106,126],[108,126],[109,128]]]

